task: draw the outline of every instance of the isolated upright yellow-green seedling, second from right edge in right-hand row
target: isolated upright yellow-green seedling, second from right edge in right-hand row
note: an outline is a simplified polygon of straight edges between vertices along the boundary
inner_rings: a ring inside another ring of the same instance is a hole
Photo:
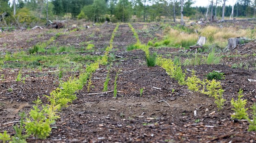
[[[231,105],[234,107],[234,108],[232,108],[232,110],[235,111],[235,113],[233,115],[231,115],[232,119],[241,120],[241,119],[245,119],[247,117],[246,111],[248,110],[248,108],[245,108],[247,100],[246,99],[245,100],[241,99],[243,96],[244,96],[243,95],[243,90],[240,89],[239,92],[238,92],[237,101],[234,101],[233,98],[231,100]]]

